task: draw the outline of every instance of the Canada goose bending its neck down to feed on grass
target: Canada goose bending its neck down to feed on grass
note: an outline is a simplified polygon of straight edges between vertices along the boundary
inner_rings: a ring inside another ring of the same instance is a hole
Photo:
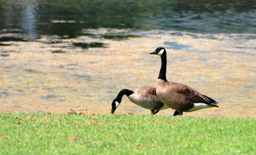
[[[136,105],[149,109],[152,115],[156,114],[159,110],[169,108],[157,97],[156,88],[144,86],[136,89],[134,92],[128,89],[121,90],[112,102],[110,114],[113,114],[120,105],[123,95],[126,95]],[[174,114],[177,115],[178,112],[175,111]]]

